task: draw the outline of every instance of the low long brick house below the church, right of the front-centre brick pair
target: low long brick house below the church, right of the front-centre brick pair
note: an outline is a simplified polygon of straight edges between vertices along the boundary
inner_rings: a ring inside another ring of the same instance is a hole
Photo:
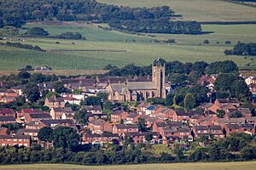
[[[137,124],[116,124],[113,125],[113,133],[137,133]]]

